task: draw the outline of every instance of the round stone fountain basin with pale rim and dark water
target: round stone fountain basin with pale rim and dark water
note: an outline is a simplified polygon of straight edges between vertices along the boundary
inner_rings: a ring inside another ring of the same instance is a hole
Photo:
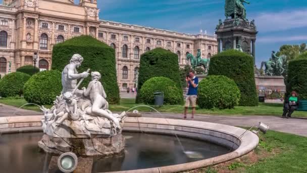
[[[4,134],[0,145],[13,147],[13,145],[5,145],[6,142],[10,143],[9,139],[12,139],[16,140],[14,144],[27,148],[26,150],[20,149],[22,155],[13,159],[16,160],[16,163],[9,161],[11,166],[22,167],[23,160],[29,159],[30,153],[32,156],[34,153],[37,154],[40,162],[32,164],[48,167],[44,165],[46,155],[39,153],[37,147],[37,142],[42,136],[42,133],[37,133],[41,132],[40,119],[41,116],[0,118],[0,132]],[[121,170],[117,172],[179,172],[243,156],[257,147],[259,142],[257,135],[239,127],[179,119],[127,117],[124,131],[127,142],[125,155],[102,160],[94,159],[90,166],[93,170],[96,172],[117,170]],[[18,132],[35,133],[6,134]],[[245,135],[238,139],[243,133]],[[179,136],[184,152],[174,134]],[[21,139],[26,140],[18,142]],[[0,152],[8,151],[10,150],[0,150]],[[0,153],[0,155],[3,155],[2,157],[9,155],[10,158],[14,158],[12,155],[18,155],[18,152]],[[8,158],[1,160],[5,159],[8,161]]]

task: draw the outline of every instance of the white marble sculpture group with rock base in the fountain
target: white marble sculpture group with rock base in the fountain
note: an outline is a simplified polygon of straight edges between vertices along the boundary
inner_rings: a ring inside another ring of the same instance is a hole
[[[79,54],[72,56],[62,71],[61,95],[57,96],[52,108],[42,107],[44,135],[38,145],[53,154],[74,152],[79,156],[110,156],[122,153],[125,147],[123,117],[126,113],[119,115],[108,109],[99,72],[91,72],[92,80],[88,87],[78,89],[89,75],[89,69],[77,72],[82,61]]]

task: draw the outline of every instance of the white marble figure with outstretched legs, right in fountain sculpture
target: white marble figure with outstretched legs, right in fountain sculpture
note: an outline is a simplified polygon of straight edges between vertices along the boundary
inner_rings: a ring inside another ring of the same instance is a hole
[[[88,83],[87,89],[83,87],[83,95],[85,97],[90,97],[91,107],[85,109],[86,113],[101,117],[106,117],[112,120],[116,127],[121,128],[119,120],[112,115],[106,108],[108,107],[108,102],[106,100],[107,95],[104,90],[104,86],[101,84],[99,79],[101,75],[99,72],[91,72],[92,81]]]

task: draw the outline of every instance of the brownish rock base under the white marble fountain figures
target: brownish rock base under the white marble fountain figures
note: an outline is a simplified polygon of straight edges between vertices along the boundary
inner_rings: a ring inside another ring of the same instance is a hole
[[[74,152],[80,156],[112,156],[123,152],[125,138],[122,134],[112,137],[92,138],[56,138],[46,134],[38,142],[38,146],[45,152],[63,154]]]

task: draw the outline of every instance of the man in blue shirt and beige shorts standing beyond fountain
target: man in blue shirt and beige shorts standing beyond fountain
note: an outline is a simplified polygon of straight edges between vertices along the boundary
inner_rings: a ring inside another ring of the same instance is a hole
[[[197,99],[197,88],[198,88],[198,77],[195,76],[194,71],[190,71],[189,75],[186,77],[186,82],[188,86],[187,98],[185,99],[184,105],[184,119],[189,106],[192,107],[192,118],[194,118],[195,109],[196,109],[196,99]]]

